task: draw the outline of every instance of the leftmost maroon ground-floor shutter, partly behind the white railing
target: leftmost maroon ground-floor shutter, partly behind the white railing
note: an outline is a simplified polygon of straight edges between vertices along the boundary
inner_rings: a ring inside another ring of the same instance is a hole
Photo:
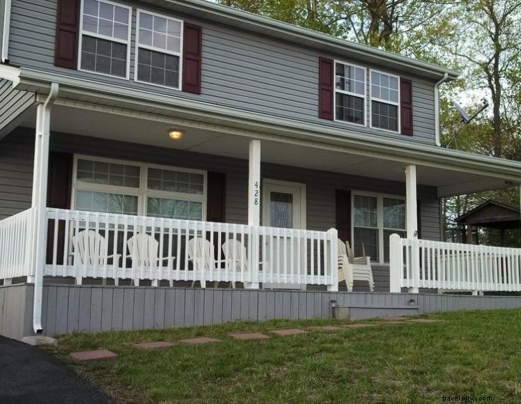
[[[47,180],[47,206],[49,208],[70,209],[72,192],[72,155],[68,153],[49,154],[49,177]],[[54,220],[47,226],[47,263],[52,263],[54,240]],[[65,222],[58,224],[57,264],[63,264],[65,245]]]

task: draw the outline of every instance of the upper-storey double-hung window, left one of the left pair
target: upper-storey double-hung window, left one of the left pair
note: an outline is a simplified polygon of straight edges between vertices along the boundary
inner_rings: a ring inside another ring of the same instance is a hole
[[[81,2],[79,69],[128,78],[132,9],[110,1]]]

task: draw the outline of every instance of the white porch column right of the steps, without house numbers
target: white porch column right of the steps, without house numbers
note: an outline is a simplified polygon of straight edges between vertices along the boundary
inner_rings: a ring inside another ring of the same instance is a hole
[[[406,192],[406,226],[407,238],[412,240],[411,265],[412,279],[419,283],[420,257],[418,245],[418,206],[416,193],[416,166],[410,164],[405,167],[405,192]],[[418,293],[418,288],[409,288],[409,293]]]

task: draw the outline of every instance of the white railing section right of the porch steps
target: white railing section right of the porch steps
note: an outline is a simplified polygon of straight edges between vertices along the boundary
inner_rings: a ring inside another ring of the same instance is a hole
[[[521,249],[391,235],[391,292],[401,288],[520,291]]]

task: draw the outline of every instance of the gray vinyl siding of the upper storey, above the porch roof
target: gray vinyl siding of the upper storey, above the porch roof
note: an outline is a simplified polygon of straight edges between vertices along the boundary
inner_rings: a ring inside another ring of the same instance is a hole
[[[297,44],[277,42],[272,38],[239,31],[208,21],[197,21],[176,15],[187,22],[203,26],[202,93],[194,95],[177,90],[139,84],[134,78],[134,39],[136,3],[132,13],[132,45],[130,81],[72,71],[54,66],[54,37],[56,26],[55,0],[13,0],[10,61],[15,65],[76,75],[119,86],[140,88],[171,96],[200,100],[236,109],[249,110],[271,116],[345,128],[348,132],[378,134],[382,137],[435,144],[434,82],[403,75],[413,83],[414,136],[371,130],[342,122],[318,118],[318,57],[335,58],[316,49]],[[143,7],[146,9],[146,7]],[[155,10],[161,12],[161,10]],[[343,58],[345,61],[345,58]],[[364,65],[352,59],[351,63]],[[383,72],[385,66],[366,65]],[[369,80],[367,79],[367,88]],[[368,88],[369,90],[369,88]],[[370,123],[367,97],[366,125]]]

